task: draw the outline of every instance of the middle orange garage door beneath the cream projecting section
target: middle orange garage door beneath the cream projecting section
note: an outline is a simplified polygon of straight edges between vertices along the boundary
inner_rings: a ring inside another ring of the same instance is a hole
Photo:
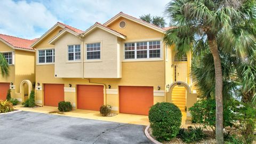
[[[102,85],[77,85],[77,108],[100,110],[103,105]]]

